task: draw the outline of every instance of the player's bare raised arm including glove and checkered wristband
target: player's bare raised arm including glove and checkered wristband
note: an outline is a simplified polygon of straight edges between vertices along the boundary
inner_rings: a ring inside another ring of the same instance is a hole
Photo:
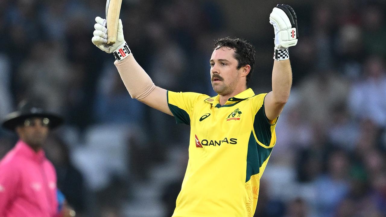
[[[277,5],[269,17],[275,31],[275,52],[272,70],[272,91],[264,99],[264,108],[269,120],[276,119],[286,104],[292,85],[292,70],[288,47],[298,42],[295,11],[289,5]]]

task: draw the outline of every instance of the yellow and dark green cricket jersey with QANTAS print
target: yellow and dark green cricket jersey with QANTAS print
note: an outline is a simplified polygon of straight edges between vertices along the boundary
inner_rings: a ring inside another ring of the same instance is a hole
[[[259,181],[276,142],[264,97],[251,88],[219,96],[168,91],[177,123],[190,130],[189,161],[173,217],[252,217]]]

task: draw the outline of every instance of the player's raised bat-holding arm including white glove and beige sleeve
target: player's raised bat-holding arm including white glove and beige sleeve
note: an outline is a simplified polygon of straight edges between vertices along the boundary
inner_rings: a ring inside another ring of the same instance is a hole
[[[149,75],[131,54],[129,46],[124,40],[122,21],[119,20],[117,41],[112,45],[106,44],[106,20],[96,17],[95,21],[97,23],[94,25],[95,31],[92,42],[102,51],[114,54],[116,59],[114,64],[130,96],[161,112],[173,115],[168,106],[167,91],[154,85]]]

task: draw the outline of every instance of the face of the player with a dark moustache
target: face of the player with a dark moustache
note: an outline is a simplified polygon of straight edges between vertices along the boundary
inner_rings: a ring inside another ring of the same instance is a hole
[[[220,47],[213,51],[210,58],[210,78],[213,90],[219,95],[232,93],[240,82],[240,69],[237,69],[234,52],[229,47]]]

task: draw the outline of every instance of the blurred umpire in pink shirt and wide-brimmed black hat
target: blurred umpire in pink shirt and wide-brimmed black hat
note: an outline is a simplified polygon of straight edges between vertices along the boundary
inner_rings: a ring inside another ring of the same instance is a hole
[[[19,141],[0,161],[0,216],[63,216],[56,171],[42,149],[49,131],[62,123],[36,101],[21,102],[5,117],[2,127],[16,132]]]

